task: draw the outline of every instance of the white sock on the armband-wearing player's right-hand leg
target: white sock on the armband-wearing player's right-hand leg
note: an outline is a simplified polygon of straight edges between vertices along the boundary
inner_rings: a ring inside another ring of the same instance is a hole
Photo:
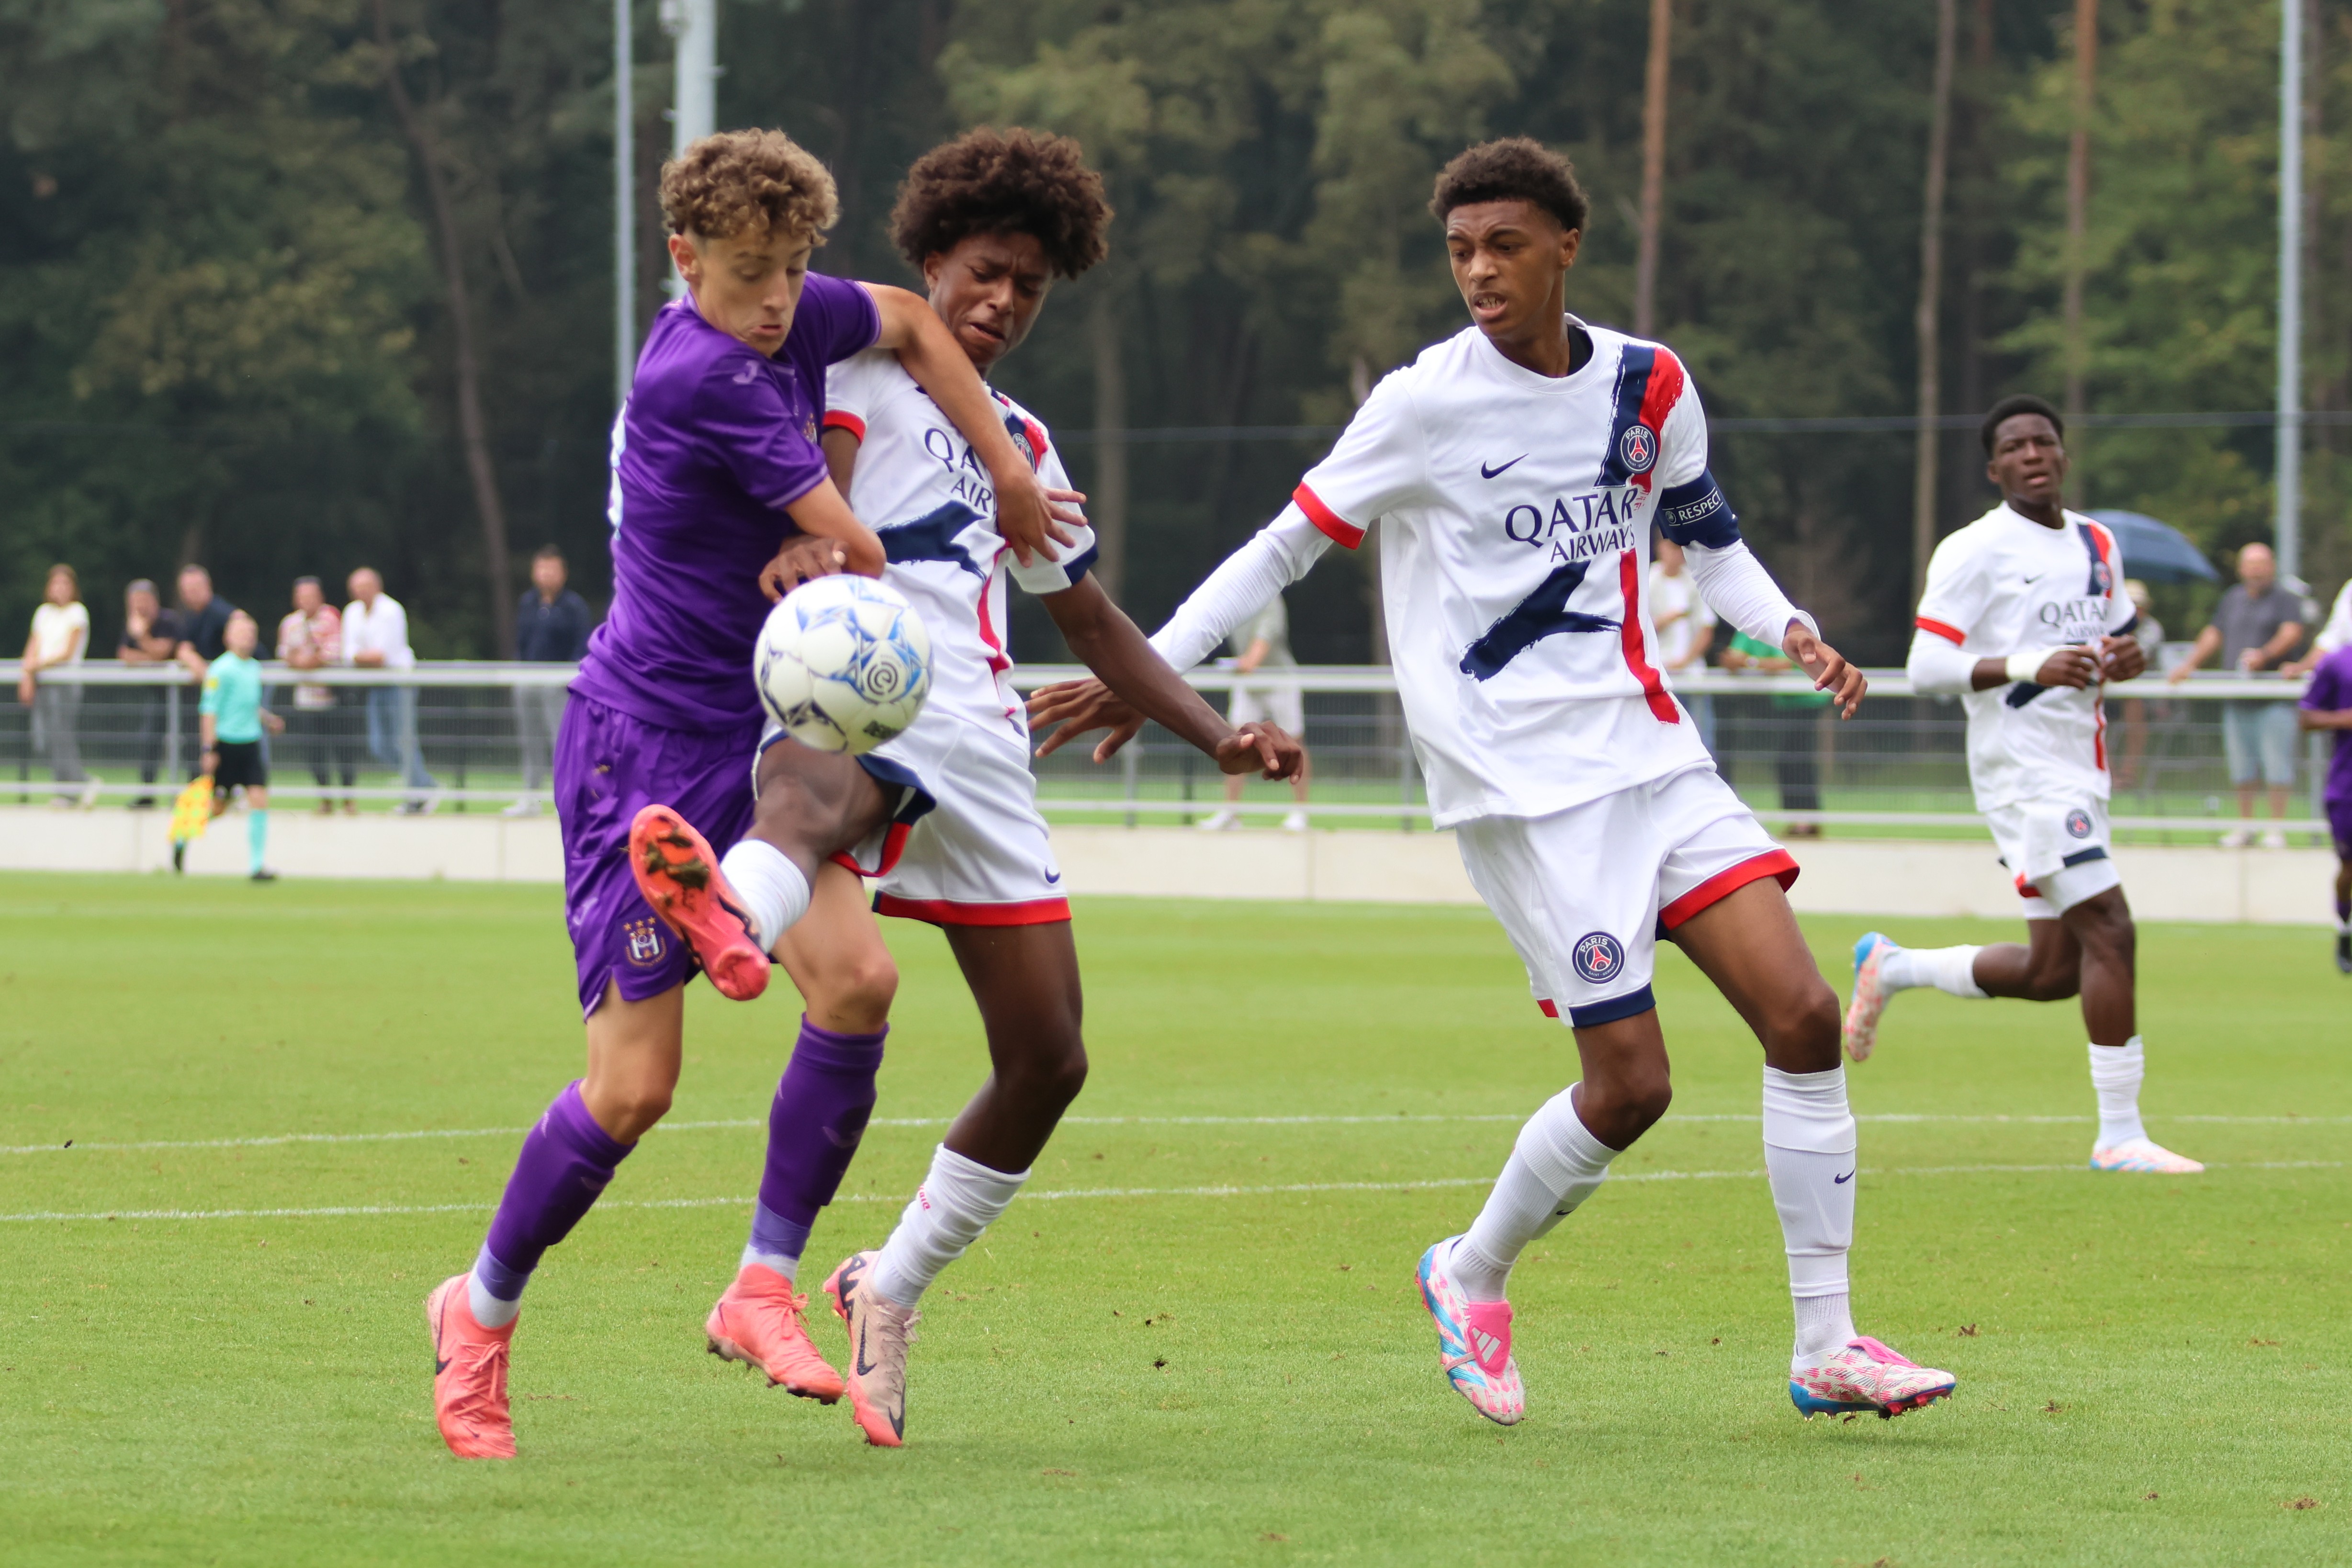
[[[1846,1070],[1764,1070],[1764,1171],[1780,1211],[1788,1293],[1797,1305],[1790,1368],[1818,1366],[1853,1338],[1846,1253],[1853,1248],[1853,1110]]]

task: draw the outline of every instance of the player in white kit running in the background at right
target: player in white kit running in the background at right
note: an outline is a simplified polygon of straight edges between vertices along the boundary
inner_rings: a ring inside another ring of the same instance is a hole
[[[1865,1060],[1889,997],[1933,985],[1955,997],[2082,997],[2098,1093],[2096,1171],[2204,1171],[2140,1126],[2131,905],[2107,853],[2107,715],[2103,682],[2131,679],[2147,654],[2119,592],[2124,557],[2103,524],[2060,505],[2065,421],[2039,397],[1985,414],[1992,508],[1926,567],[1910,677],[1969,712],[1969,783],[2025,900],[2025,945],[1898,947],[1877,931],[1853,945],[1846,1053]]]

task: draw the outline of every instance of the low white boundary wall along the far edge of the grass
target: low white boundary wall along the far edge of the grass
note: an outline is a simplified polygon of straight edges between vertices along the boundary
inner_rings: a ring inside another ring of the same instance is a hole
[[[0,806],[0,870],[155,872],[172,865],[169,811]],[[1077,893],[1477,903],[1449,832],[1202,832],[1056,827]],[[1795,839],[1790,896],[1820,914],[1985,914],[2013,919],[2016,889],[1990,839]],[[2321,849],[2114,851],[2140,919],[2333,924],[2336,856]],[[553,816],[442,811],[426,818],[270,813],[270,865],[287,877],[562,882]],[[188,846],[191,875],[245,872],[242,811]]]

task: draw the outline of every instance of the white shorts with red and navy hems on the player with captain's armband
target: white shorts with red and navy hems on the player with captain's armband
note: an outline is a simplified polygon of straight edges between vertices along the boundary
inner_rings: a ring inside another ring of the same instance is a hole
[[[1590,1030],[1646,1013],[1658,938],[1736,889],[1797,879],[1710,764],[1552,816],[1482,816],[1454,832],[1545,1018]]]

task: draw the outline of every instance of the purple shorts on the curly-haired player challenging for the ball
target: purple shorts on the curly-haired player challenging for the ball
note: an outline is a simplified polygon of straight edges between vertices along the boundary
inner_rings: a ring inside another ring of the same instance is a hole
[[[628,825],[642,806],[675,806],[720,851],[753,818],[750,757],[760,724],[663,729],[574,696],[555,733],[555,816],[564,830],[564,924],[579,964],[581,1013],[604,999],[659,997],[694,973],[687,945],[637,896]]]

